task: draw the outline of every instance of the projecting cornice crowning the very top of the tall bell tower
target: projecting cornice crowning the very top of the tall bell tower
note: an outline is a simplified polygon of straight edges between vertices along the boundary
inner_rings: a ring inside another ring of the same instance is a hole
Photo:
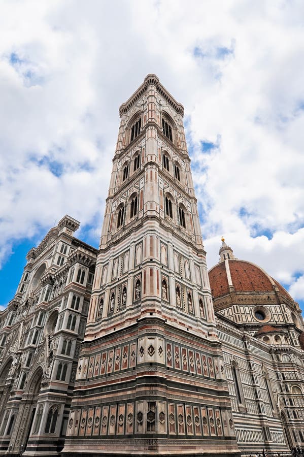
[[[178,103],[174,97],[168,92],[159,82],[159,79],[154,74],[149,74],[146,76],[143,84],[130,96],[130,98],[123,103],[119,108],[119,116],[121,117],[140,99],[142,95],[147,91],[150,84],[154,84],[156,90],[160,95],[165,99],[165,101],[171,105],[178,114],[184,116],[184,107]]]

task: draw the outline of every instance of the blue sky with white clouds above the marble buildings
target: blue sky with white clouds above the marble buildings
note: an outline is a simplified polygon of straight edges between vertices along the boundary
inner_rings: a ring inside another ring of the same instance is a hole
[[[224,236],[304,309],[302,0],[0,9],[0,309],[65,214],[98,246],[118,109],[148,73],[185,108],[208,268]]]

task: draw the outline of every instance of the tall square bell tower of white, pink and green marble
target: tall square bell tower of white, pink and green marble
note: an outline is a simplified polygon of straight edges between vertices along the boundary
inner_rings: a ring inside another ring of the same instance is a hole
[[[64,455],[236,455],[183,126],[155,75],[120,127]]]

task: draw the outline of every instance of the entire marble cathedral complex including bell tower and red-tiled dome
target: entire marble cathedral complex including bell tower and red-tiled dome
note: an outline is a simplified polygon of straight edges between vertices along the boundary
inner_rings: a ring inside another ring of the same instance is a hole
[[[0,455],[304,447],[296,302],[224,240],[209,273],[183,106],[148,75],[121,105],[99,249],[62,218],[0,314]]]

